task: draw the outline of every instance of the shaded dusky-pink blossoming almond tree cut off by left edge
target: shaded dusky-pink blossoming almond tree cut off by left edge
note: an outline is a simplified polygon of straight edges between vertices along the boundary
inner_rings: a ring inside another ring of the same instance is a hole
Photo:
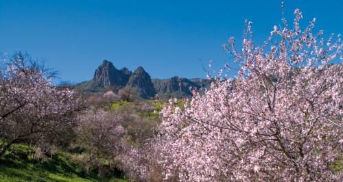
[[[22,53],[1,64],[0,156],[18,142],[49,149],[68,138],[82,109],[78,95],[51,85],[51,75]]]

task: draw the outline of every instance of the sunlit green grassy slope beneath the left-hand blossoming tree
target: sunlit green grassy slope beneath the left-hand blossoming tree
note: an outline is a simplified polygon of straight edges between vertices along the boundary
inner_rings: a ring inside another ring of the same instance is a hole
[[[25,144],[12,146],[0,160],[0,181],[126,181],[112,177],[100,178],[94,172],[84,172],[73,164],[70,153],[56,153],[44,160],[34,159]]]

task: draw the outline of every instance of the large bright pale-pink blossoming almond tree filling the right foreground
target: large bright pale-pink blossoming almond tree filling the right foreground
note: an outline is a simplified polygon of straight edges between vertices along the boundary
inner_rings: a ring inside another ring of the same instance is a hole
[[[215,79],[193,92],[185,109],[163,109],[156,150],[165,179],[180,181],[336,181],[342,171],[343,66],[341,36],[300,29],[283,18],[257,46],[246,22],[241,51],[224,49],[239,67],[235,79]],[[335,63],[335,64],[331,64]]]

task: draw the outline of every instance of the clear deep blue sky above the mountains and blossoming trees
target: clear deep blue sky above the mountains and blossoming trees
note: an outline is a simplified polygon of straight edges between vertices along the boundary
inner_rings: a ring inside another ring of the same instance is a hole
[[[102,60],[117,68],[143,66],[153,78],[205,77],[204,64],[220,68],[222,44],[241,38],[244,18],[262,42],[281,23],[281,1],[76,1],[0,0],[0,53],[24,51],[60,71],[60,79],[91,79]],[[289,0],[303,23],[316,17],[326,35],[343,33],[342,0]]]

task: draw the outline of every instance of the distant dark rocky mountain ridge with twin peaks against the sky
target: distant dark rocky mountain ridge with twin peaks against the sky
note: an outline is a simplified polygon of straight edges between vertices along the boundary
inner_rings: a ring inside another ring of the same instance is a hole
[[[161,99],[190,97],[190,88],[204,90],[211,81],[208,79],[186,79],[171,77],[170,79],[151,79],[150,75],[139,66],[132,73],[128,68],[118,70],[112,62],[104,60],[95,70],[93,79],[76,84],[73,88],[78,92],[117,92],[123,87],[138,88],[143,99],[150,99],[158,94]]]

